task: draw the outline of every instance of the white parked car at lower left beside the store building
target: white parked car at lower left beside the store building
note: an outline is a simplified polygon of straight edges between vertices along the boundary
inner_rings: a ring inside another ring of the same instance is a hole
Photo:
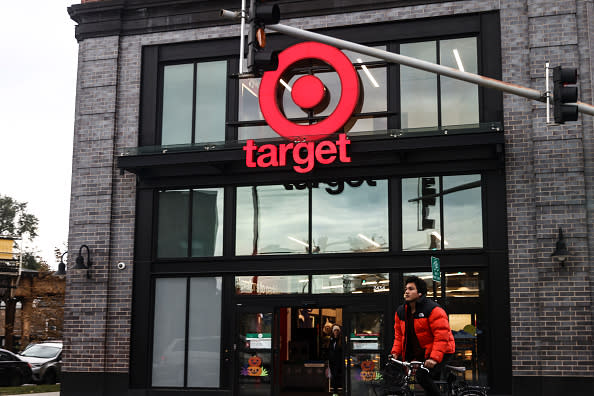
[[[62,374],[62,341],[32,343],[19,354],[31,364],[33,382],[55,384]]]

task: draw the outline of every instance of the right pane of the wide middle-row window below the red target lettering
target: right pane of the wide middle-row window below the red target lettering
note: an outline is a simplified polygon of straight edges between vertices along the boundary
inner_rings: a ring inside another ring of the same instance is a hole
[[[349,181],[335,185],[312,189],[314,252],[387,251],[388,181]]]

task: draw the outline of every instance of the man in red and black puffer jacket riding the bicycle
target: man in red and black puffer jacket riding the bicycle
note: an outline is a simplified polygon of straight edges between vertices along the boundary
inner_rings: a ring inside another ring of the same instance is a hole
[[[426,298],[427,284],[418,276],[405,281],[405,303],[394,315],[394,345],[391,356],[407,362],[420,361],[429,369],[417,370],[417,382],[427,396],[439,396],[435,380],[454,354],[454,336],[445,310]]]

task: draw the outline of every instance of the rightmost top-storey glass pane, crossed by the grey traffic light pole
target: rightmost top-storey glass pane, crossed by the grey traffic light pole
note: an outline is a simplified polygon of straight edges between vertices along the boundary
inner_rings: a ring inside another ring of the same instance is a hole
[[[439,42],[440,64],[478,73],[476,37]],[[479,122],[478,86],[449,77],[440,77],[441,124],[463,125]]]

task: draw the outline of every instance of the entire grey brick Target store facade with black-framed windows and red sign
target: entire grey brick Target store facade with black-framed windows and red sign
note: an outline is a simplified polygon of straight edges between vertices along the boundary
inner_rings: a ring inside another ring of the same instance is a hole
[[[543,51],[592,50],[579,1],[277,3],[283,24],[525,86]],[[92,265],[68,269],[62,394],[328,394],[336,325],[333,391],[374,394],[413,274],[448,312],[467,380],[588,394],[591,160],[573,148],[591,119],[547,128],[526,99],[280,34],[276,71],[238,75],[239,25],[219,12],[239,6],[68,9],[69,246]],[[559,18],[577,44],[529,30]]]

